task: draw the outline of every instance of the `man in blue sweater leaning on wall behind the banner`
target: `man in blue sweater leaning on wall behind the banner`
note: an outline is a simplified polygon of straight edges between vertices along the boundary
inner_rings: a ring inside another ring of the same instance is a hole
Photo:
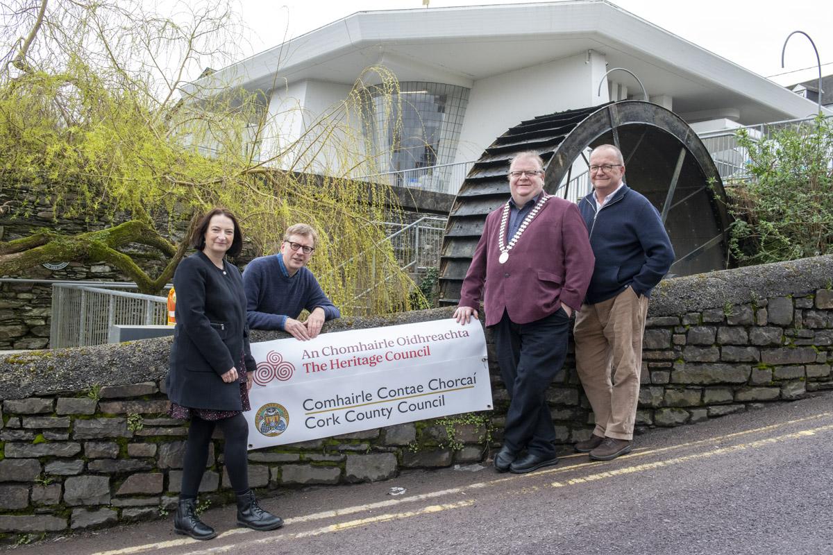
[[[252,260],[243,272],[246,317],[252,330],[283,330],[296,339],[317,337],[325,320],[341,316],[305,266],[315,250],[312,226],[295,224],[283,234],[277,255]],[[307,320],[297,320],[309,310]]]

